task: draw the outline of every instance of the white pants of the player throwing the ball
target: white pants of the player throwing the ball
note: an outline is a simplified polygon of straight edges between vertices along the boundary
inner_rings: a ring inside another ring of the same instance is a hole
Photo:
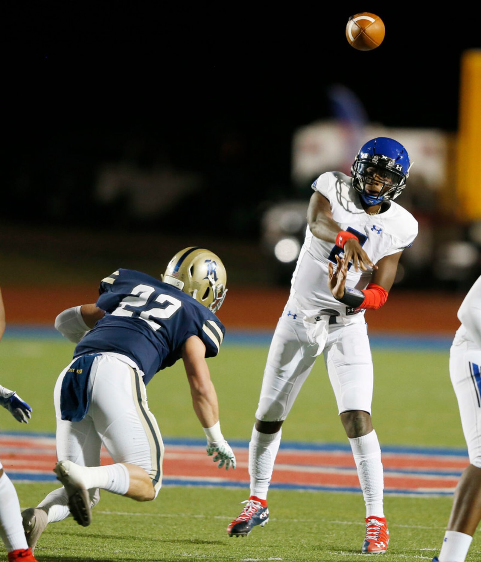
[[[357,316],[357,315],[356,315]],[[348,410],[371,413],[373,359],[364,316],[338,317],[328,326],[324,361],[339,414]],[[285,420],[314,366],[317,346],[310,345],[302,312],[292,300],[279,319],[267,356],[256,418],[265,422]]]

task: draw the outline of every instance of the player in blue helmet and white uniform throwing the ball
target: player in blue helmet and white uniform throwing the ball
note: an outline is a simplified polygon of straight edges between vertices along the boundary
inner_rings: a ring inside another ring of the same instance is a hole
[[[376,138],[361,147],[352,178],[328,172],[312,185],[306,239],[267,356],[249,444],[251,495],[229,524],[230,536],[246,536],[255,525],[267,523],[267,490],[281,426],[322,352],[366,503],[362,552],[387,549],[383,466],[371,423],[373,362],[364,312],[384,304],[401,253],[418,233],[414,217],[393,202],[405,187],[409,167],[400,143]]]

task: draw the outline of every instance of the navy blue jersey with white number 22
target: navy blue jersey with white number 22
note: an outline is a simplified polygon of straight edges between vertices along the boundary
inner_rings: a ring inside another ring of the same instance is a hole
[[[145,377],[180,359],[187,338],[198,336],[206,357],[219,352],[225,328],[189,294],[140,271],[119,269],[102,279],[97,306],[106,314],[81,339],[74,357],[115,351],[133,359]]]

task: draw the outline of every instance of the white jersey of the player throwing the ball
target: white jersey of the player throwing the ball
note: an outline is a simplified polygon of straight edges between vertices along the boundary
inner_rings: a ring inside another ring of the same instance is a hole
[[[333,219],[341,230],[348,230],[359,238],[359,243],[374,264],[384,256],[411,246],[418,234],[418,221],[394,201],[391,201],[387,211],[368,215],[362,208],[359,193],[352,187],[350,176],[341,172],[320,175],[312,184],[312,189],[329,200]],[[341,248],[316,238],[307,226],[306,238],[292,277],[291,295],[308,308],[350,315],[354,310],[335,300],[328,287],[328,264],[329,261],[336,263],[336,254],[344,256]],[[356,271],[350,264],[346,287],[365,289],[372,274],[371,269]],[[364,314],[364,311],[359,314]]]

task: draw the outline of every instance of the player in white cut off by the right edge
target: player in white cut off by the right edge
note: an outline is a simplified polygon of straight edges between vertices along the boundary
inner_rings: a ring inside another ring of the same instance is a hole
[[[457,317],[461,326],[450,350],[450,375],[470,465],[456,486],[448,530],[433,562],[464,562],[481,520],[481,277],[462,301]]]

